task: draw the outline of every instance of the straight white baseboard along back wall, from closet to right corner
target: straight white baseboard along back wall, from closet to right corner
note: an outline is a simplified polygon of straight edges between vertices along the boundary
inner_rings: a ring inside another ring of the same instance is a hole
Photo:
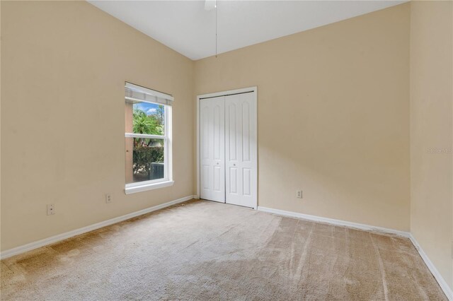
[[[328,223],[331,225],[346,226],[349,228],[356,228],[356,229],[360,229],[360,230],[389,233],[389,234],[394,234],[394,235],[398,235],[398,236],[402,236],[402,237],[409,237],[409,235],[410,235],[409,232],[404,232],[404,231],[400,231],[400,230],[382,228],[382,227],[365,225],[365,224],[360,224],[360,223],[352,223],[352,222],[347,222],[345,220],[335,220],[333,218],[321,218],[320,216],[310,216],[310,215],[304,214],[304,213],[284,211],[284,210],[280,210],[280,209],[273,209],[273,208],[267,208],[267,207],[262,207],[262,206],[258,206],[258,211],[273,213],[273,214],[277,214],[279,216],[290,216],[292,218],[302,218],[304,220],[313,220],[313,221],[319,222],[319,223]]]

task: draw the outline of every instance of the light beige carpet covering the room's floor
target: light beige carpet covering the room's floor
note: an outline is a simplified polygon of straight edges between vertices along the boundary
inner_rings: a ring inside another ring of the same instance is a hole
[[[1,300],[447,300],[405,238],[190,201],[1,261]]]

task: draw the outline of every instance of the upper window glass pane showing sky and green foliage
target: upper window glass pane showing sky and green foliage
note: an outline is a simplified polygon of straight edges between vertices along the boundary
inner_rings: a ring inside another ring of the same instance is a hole
[[[126,100],[126,133],[165,134],[165,107],[149,102]]]

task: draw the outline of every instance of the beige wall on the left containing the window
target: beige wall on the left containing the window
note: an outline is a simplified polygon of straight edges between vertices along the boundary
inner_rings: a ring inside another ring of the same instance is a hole
[[[125,81],[175,97],[173,187],[125,196]],[[120,20],[1,1],[1,88],[2,250],[193,194],[193,61]]]

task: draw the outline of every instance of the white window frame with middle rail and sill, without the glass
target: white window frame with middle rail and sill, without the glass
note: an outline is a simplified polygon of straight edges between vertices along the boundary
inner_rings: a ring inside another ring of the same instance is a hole
[[[144,88],[144,91],[150,90]],[[163,139],[164,140],[164,178],[151,179],[142,182],[125,183],[125,194],[132,194],[140,191],[147,191],[151,189],[157,189],[161,187],[168,187],[174,184],[173,181],[173,166],[172,166],[172,106],[164,105],[159,102],[151,102],[148,100],[140,100],[135,98],[125,97],[127,100],[136,100],[139,102],[152,103],[153,105],[164,106],[164,135],[152,135],[152,134],[135,134],[125,132],[125,138],[151,138],[151,139]],[[125,150],[126,153],[126,150]],[[132,155],[133,156],[133,155]],[[125,157],[126,160],[126,157]],[[132,163],[133,164],[133,163]],[[127,172],[125,170],[125,172]]]

